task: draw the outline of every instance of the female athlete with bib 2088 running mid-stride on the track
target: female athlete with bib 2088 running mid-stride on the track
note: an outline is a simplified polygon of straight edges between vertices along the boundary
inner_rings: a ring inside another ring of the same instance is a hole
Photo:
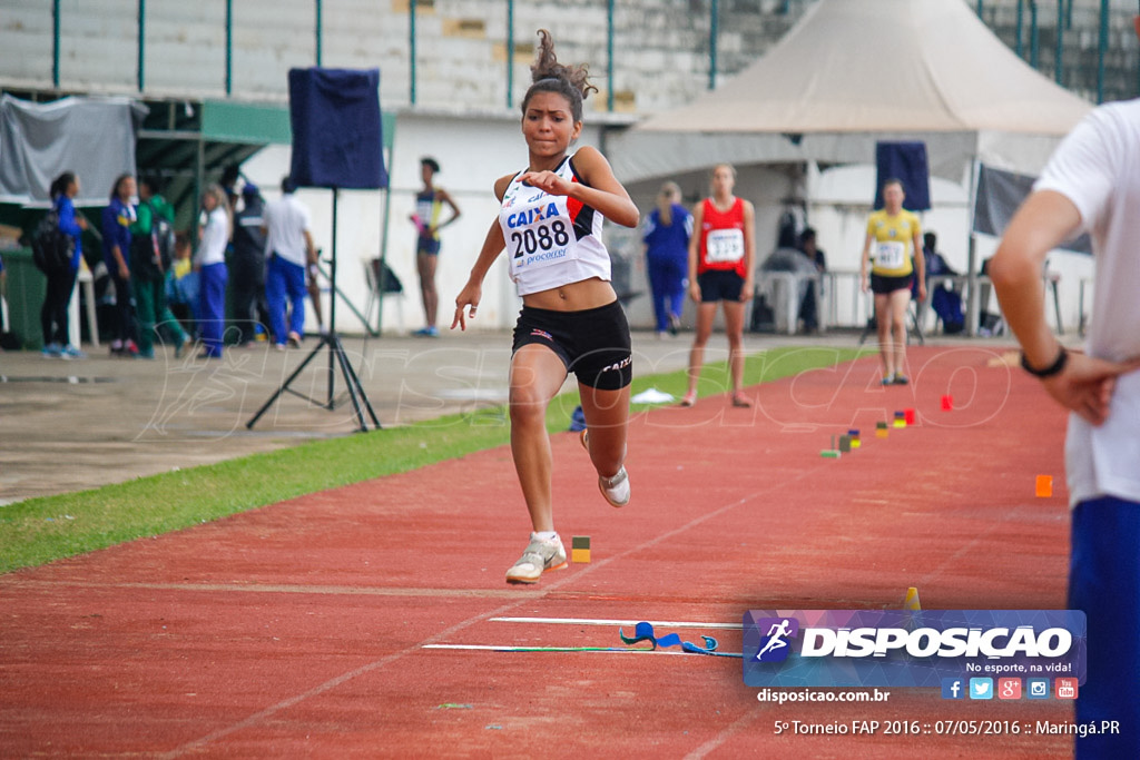
[[[529,163],[495,182],[502,210],[455,300],[451,322],[466,329],[466,319],[475,318],[483,277],[505,248],[523,303],[511,359],[511,452],[534,529],[507,570],[511,583],[534,583],[567,564],[554,530],[546,408],[570,371],[578,378],[588,428],[583,444],[598,489],[616,507],[629,501],[629,326],[610,286],[601,235],[603,216],[636,227],[638,213],[601,153],[588,146],[568,153],[581,133],[583,99],[597,90],[585,66],[557,63],[549,32],[538,34],[534,83],[522,101]]]

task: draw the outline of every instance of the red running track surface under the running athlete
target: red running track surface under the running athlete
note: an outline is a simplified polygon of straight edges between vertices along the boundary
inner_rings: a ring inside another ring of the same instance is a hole
[[[0,755],[1069,757],[1072,738],[777,735],[777,721],[1068,720],[1065,703],[757,702],[735,659],[427,645],[620,646],[617,626],[748,608],[1065,606],[1064,414],[985,349],[914,349],[632,424],[633,502],[554,436],[556,522],[591,564],[514,588],[529,524],[506,449],[0,578]],[[997,365],[997,366],[993,366]],[[952,394],[954,411],[942,411]],[[918,424],[874,436],[914,408]],[[858,427],[860,450],[824,459]],[[382,433],[380,433],[382,434]],[[1054,495],[1034,495],[1039,474]],[[715,636],[740,651],[739,630]],[[628,632],[628,631],[627,631]]]

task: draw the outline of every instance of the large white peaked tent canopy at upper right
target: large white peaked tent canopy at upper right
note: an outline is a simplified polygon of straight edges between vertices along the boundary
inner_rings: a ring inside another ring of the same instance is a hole
[[[719,161],[865,163],[922,140],[931,172],[1036,173],[1090,104],[1033,71],[964,0],[820,0],[763,58],[614,141],[625,181]]]

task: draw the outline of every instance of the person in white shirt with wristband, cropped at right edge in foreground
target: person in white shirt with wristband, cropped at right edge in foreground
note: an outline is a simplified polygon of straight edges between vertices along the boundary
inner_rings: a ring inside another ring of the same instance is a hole
[[[1140,16],[1135,18],[1140,36]],[[1092,237],[1096,293],[1085,353],[1045,322],[1050,250]],[[1069,600],[1088,620],[1076,721],[1119,733],[1076,739],[1077,758],[1140,758],[1140,99],[1096,108],[1065,138],[1010,221],[988,273],[1021,365],[1072,411]]]

